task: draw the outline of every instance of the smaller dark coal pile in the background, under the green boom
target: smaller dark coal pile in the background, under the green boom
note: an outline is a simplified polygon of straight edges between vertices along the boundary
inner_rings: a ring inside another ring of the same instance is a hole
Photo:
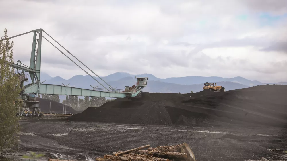
[[[50,102],[51,102],[51,113],[63,113],[63,104],[56,102],[56,101],[52,101],[49,99],[42,99],[42,98],[38,98],[39,102],[40,102],[40,107],[41,107],[41,112],[45,112],[45,113],[50,113]],[[65,105],[64,107],[64,113],[79,113],[78,111],[76,111],[75,109],[73,109],[70,106]]]

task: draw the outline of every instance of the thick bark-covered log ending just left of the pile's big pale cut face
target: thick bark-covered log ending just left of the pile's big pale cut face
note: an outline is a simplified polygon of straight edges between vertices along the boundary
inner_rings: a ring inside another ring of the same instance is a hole
[[[146,154],[150,156],[158,156],[158,157],[173,159],[173,160],[188,160],[186,153],[161,152],[161,151],[150,151],[150,150],[137,150],[134,153],[135,154]]]

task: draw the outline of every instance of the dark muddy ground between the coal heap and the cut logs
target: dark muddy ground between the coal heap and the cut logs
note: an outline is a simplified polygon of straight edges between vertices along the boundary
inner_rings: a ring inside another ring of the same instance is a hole
[[[287,129],[272,126],[243,126],[214,122],[205,126],[127,125],[96,122],[20,121],[19,150],[9,157],[21,160],[28,151],[42,152],[41,158],[94,160],[118,150],[150,144],[151,147],[187,142],[198,161],[287,160]],[[12,157],[13,156],[13,157]],[[83,158],[84,156],[84,158]],[[78,158],[79,159],[79,158]]]

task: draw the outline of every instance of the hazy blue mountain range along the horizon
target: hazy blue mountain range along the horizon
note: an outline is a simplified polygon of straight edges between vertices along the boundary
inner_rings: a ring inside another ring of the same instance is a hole
[[[152,74],[139,74],[133,75],[124,72],[117,72],[110,74],[108,76],[101,77],[104,81],[106,81],[110,86],[116,89],[125,89],[125,86],[133,85],[136,80],[136,77],[148,77],[147,87],[144,88],[143,91],[146,92],[160,92],[160,93],[190,93],[202,91],[203,83],[205,82],[216,82],[217,85],[225,87],[225,90],[234,90],[247,88],[256,85],[264,85],[264,84],[282,84],[287,85],[287,82],[278,82],[278,83],[261,83],[257,80],[251,81],[245,79],[243,77],[237,76],[234,78],[222,78],[222,77],[203,77],[203,76],[186,76],[186,77],[173,77],[161,79],[157,78]],[[102,80],[98,77],[94,77],[98,80],[102,85],[108,88]],[[84,88],[84,89],[92,89],[90,85],[93,87],[98,86],[97,88],[104,88],[98,82],[96,82],[89,75],[76,75],[72,78],[66,80],[61,78],[60,76],[51,77],[46,73],[41,73],[41,82],[45,81],[45,84],[55,84],[55,85],[64,85],[69,84],[70,87]],[[27,82],[28,83],[28,82]],[[25,84],[27,84],[25,83]],[[30,77],[29,77],[30,83]],[[60,100],[63,100],[64,97],[60,97]]]

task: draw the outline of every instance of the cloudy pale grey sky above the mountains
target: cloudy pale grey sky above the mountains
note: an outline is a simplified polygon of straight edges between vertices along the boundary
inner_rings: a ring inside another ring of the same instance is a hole
[[[6,28],[8,36],[42,28],[100,76],[127,72],[158,78],[287,81],[286,0],[0,0],[0,4],[0,28]],[[30,33],[11,39],[15,61],[30,64],[32,38]],[[46,40],[41,72],[65,79],[86,75]]]

